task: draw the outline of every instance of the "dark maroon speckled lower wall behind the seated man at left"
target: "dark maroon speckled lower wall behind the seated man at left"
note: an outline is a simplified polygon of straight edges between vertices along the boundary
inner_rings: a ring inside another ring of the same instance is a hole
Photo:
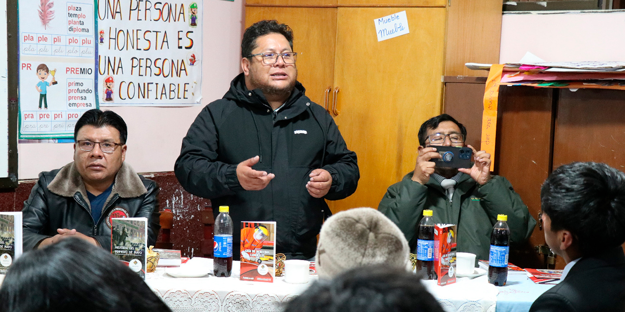
[[[142,174],[156,181],[161,188],[159,210],[171,208],[174,213],[174,228],[171,230],[174,248],[180,249],[183,256],[202,256],[200,248],[204,239],[204,224],[201,223],[200,212],[204,207],[210,207],[211,201],[186,192],[173,172]],[[24,200],[30,195],[35,182],[35,180],[21,181],[15,190],[0,191],[0,211],[22,210]]]

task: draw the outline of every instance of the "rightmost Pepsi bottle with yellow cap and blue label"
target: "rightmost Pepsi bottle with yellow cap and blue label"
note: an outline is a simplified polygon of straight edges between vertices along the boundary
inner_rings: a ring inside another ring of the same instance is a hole
[[[497,223],[491,233],[491,253],[488,257],[488,282],[504,286],[507,281],[507,261],[510,255],[510,228],[507,215],[497,215]]]

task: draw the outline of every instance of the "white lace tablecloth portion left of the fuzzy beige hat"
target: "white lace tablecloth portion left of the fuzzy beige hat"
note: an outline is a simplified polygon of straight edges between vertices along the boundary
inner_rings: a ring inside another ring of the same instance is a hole
[[[281,305],[302,293],[306,284],[289,284],[277,277],[273,283],[240,281],[238,261],[232,261],[228,278],[212,274],[201,278],[173,278],[165,268],[146,275],[146,283],[174,312],[192,311],[282,311]],[[212,263],[211,263],[212,268]]]

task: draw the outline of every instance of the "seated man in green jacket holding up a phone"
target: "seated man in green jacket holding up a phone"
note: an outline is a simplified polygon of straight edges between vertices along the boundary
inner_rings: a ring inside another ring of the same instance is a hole
[[[435,223],[457,225],[457,251],[488,260],[491,231],[497,215],[508,216],[512,243],[526,241],[536,220],[506,178],[491,175],[491,155],[473,150],[471,168],[436,167],[436,146],[464,147],[466,128],[447,114],[432,117],[419,129],[419,156],[414,171],[388,188],[377,210],[406,235],[413,253],[423,210],[434,212]]]

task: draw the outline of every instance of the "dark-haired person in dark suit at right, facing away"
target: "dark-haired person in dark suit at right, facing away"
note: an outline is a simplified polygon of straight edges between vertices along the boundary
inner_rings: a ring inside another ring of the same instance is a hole
[[[541,208],[545,241],[567,264],[530,311],[625,311],[625,174],[563,165],[542,185]]]

